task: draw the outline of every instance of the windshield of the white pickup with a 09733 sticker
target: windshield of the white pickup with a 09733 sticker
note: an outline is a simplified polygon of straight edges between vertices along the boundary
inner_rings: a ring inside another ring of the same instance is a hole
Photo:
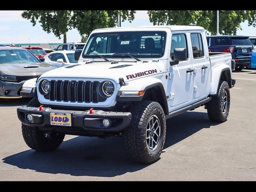
[[[159,58],[164,55],[165,42],[166,32],[163,31],[92,34],[83,57],[90,57],[89,54],[102,54],[106,58],[111,58],[113,54],[131,54],[137,58]]]

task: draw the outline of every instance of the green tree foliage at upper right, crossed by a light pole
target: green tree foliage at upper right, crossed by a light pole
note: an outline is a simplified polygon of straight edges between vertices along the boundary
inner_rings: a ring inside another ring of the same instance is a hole
[[[197,25],[204,27],[212,35],[216,34],[216,10],[184,10],[184,11],[148,11],[150,22],[154,25]],[[219,11],[219,33],[236,34],[241,29],[240,23],[248,20],[249,26],[256,26],[256,11],[222,10]]]

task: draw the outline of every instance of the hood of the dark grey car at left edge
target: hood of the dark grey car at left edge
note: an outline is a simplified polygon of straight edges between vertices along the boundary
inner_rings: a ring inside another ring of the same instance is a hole
[[[55,67],[44,63],[0,64],[1,74],[14,76],[37,76],[52,69],[55,69]]]

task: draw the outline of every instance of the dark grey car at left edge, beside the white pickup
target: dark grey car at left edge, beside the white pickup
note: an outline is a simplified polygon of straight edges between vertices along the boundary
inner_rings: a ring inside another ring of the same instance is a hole
[[[20,91],[26,80],[38,77],[55,67],[42,63],[29,50],[15,46],[0,47],[0,99],[21,98]]]

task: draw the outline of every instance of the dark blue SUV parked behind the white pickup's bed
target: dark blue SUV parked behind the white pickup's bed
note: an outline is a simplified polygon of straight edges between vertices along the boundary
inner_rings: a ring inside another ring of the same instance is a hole
[[[207,36],[206,39],[211,52],[231,53],[232,68],[235,70],[243,70],[246,65],[250,64],[254,46],[248,36],[216,35]]]

